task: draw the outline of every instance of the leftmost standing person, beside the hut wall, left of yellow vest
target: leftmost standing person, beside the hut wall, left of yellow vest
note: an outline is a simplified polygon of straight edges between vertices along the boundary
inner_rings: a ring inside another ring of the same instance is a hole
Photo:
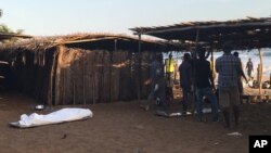
[[[147,97],[145,111],[150,110],[154,98],[159,98],[162,106],[166,109],[166,81],[164,77],[163,55],[158,54],[151,64],[151,92]]]

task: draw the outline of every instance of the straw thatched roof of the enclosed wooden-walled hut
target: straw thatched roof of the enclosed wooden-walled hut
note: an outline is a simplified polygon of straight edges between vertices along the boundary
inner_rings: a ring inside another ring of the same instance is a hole
[[[131,50],[137,52],[139,39],[126,35],[113,34],[75,34],[66,36],[53,37],[34,37],[28,40],[20,40],[16,43],[8,43],[2,48],[25,48],[29,50],[48,49],[56,46],[67,46],[85,49],[101,50]],[[141,40],[142,50],[146,51],[169,51],[175,46],[168,44],[166,41],[157,41],[151,39]]]

